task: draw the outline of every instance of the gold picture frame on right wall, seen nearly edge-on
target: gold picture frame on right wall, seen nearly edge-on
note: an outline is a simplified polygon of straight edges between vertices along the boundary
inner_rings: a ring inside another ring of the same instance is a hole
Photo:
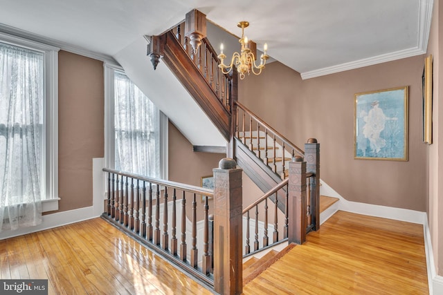
[[[433,57],[424,59],[422,75],[423,96],[423,142],[432,144],[432,97],[433,95]]]

